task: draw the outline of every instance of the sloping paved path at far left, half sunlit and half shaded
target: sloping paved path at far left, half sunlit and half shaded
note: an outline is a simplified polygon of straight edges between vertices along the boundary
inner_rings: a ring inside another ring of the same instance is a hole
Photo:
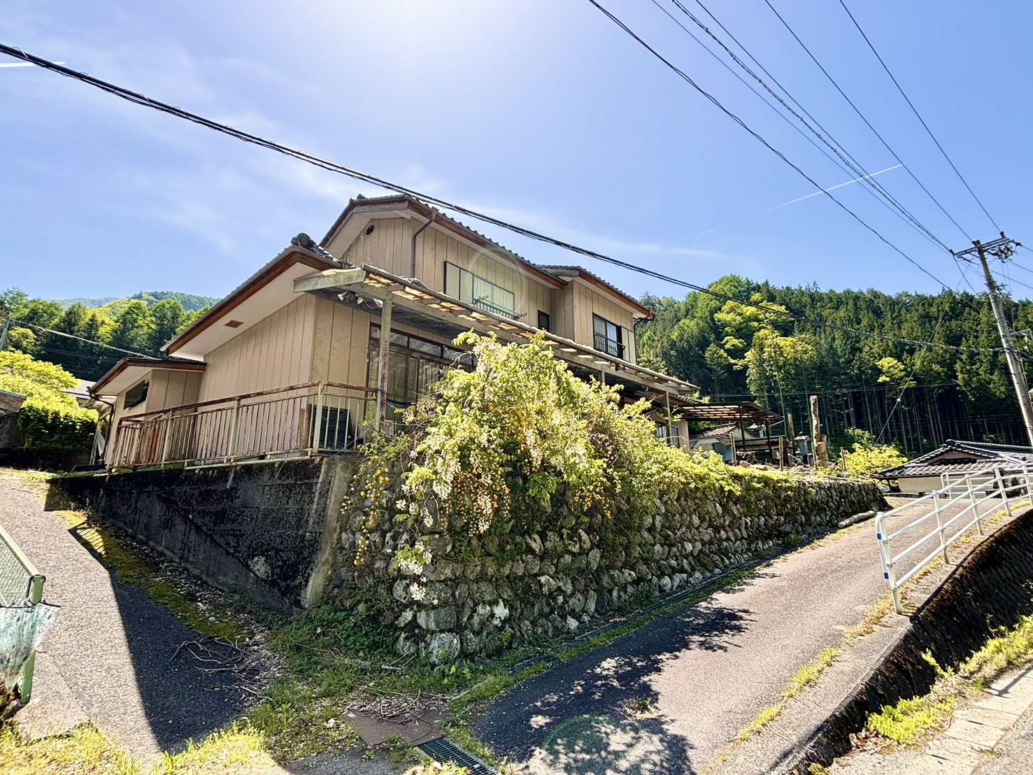
[[[32,702],[15,716],[26,732],[59,733],[89,719],[150,760],[240,715],[231,679],[201,672],[179,649],[197,633],[143,589],[121,584],[28,484],[2,474],[0,524],[46,577],[44,599],[61,606],[37,655]]]

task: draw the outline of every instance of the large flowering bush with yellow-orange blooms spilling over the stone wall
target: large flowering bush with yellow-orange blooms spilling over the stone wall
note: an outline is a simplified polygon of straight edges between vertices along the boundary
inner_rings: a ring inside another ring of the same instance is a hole
[[[447,372],[409,410],[409,433],[368,444],[352,483],[348,510],[366,515],[367,527],[406,529],[409,545],[395,556],[403,572],[418,572],[416,538],[432,526],[461,555],[486,534],[537,530],[554,498],[586,523],[629,532],[652,518],[661,494],[740,496],[748,481],[787,479],[667,446],[645,401],[622,405],[616,389],[576,378],[540,337],[457,341],[473,345],[476,368]]]

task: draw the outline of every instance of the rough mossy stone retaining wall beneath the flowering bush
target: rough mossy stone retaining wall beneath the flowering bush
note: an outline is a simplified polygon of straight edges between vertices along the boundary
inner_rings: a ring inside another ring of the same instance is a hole
[[[384,518],[371,528],[367,509],[355,508],[345,515],[334,583],[389,589],[397,649],[446,662],[575,633],[608,611],[641,607],[885,507],[874,485],[776,477],[744,477],[738,496],[686,490],[659,499],[638,529],[561,501],[542,509],[535,529],[510,525],[473,538],[428,529],[422,565],[392,561],[413,544],[400,523]]]

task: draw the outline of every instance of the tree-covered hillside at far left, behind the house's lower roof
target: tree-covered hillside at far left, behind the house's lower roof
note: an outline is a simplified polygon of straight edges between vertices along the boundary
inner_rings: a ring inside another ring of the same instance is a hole
[[[80,379],[94,381],[122,358],[160,357],[161,345],[197,319],[213,301],[157,291],[99,307],[81,301],[64,306],[29,299],[9,288],[0,292],[0,327],[9,315],[7,349],[58,364]]]

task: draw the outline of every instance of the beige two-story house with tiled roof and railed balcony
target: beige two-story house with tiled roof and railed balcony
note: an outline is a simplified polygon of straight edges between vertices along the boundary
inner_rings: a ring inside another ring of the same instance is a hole
[[[409,196],[351,200],[318,245],[291,245],[163,348],[94,385],[114,397],[112,467],[271,459],[351,448],[444,369],[470,364],[462,332],[544,332],[585,379],[677,409],[695,386],[636,364],[650,310],[580,267],[539,266]],[[389,333],[388,333],[389,332]]]

